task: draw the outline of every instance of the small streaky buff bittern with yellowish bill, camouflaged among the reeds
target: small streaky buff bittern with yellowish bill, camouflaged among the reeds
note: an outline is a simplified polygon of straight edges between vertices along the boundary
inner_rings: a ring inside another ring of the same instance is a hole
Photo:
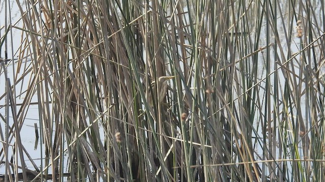
[[[157,102],[158,104],[163,103],[166,93],[167,93],[167,81],[174,78],[175,76],[160,76],[158,78],[158,84],[156,85],[156,82],[152,82],[150,84],[149,93],[147,96],[147,101],[150,106],[153,106],[153,102]],[[156,89],[159,90],[159,92],[156,92]],[[158,97],[158,98],[157,98]],[[154,98],[154,99],[152,99]]]

